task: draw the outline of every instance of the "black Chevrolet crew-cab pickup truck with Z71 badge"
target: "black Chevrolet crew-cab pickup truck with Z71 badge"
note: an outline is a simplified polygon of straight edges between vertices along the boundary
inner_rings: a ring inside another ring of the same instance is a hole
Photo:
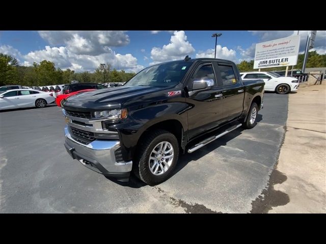
[[[264,81],[245,83],[223,59],[186,57],[148,67],[120,87],[68,98],[65,147],[105,176],[148,185],[171,176],[179,153],[192,153],[241,125],[256,125]],[[203,165],[204,167],[204,165]]]

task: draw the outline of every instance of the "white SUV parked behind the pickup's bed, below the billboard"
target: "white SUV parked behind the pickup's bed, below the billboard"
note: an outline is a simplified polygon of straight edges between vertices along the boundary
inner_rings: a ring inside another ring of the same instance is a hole
[[[296,78],[281,76],[275,72],[241,72],[240,75],[243,81],[262,79],[265,81],[266,91],[278,94],[288,94],[299,87]]]

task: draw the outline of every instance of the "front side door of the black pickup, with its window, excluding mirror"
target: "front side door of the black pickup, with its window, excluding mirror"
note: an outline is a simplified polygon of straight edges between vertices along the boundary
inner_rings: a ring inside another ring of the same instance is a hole
[[[220,124],[223,118],[222,88],[216,84],[216,76],[211,62],[205,62],[197,66],[188,86],[194,79],[213,79],[214,86],[210,89],[195,90],[189,92],[186,103],[192,106],[188,114],[188,137],[189,139],[212,129]]]

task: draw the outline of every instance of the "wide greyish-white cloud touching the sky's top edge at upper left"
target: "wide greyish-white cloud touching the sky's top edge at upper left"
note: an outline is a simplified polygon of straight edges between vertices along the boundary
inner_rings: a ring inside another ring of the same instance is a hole
[[[39,31],[50,45],[66,46],[75,54],[99,55],[110,47],[125,46],[130,39],[124,31]]]

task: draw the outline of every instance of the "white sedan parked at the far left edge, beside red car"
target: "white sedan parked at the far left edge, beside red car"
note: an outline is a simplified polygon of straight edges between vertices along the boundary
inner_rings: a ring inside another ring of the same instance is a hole
[[[0,110],[13,108],[44,108],[55,101],[52,93],[32,89],[13,89],[0,94]]]

